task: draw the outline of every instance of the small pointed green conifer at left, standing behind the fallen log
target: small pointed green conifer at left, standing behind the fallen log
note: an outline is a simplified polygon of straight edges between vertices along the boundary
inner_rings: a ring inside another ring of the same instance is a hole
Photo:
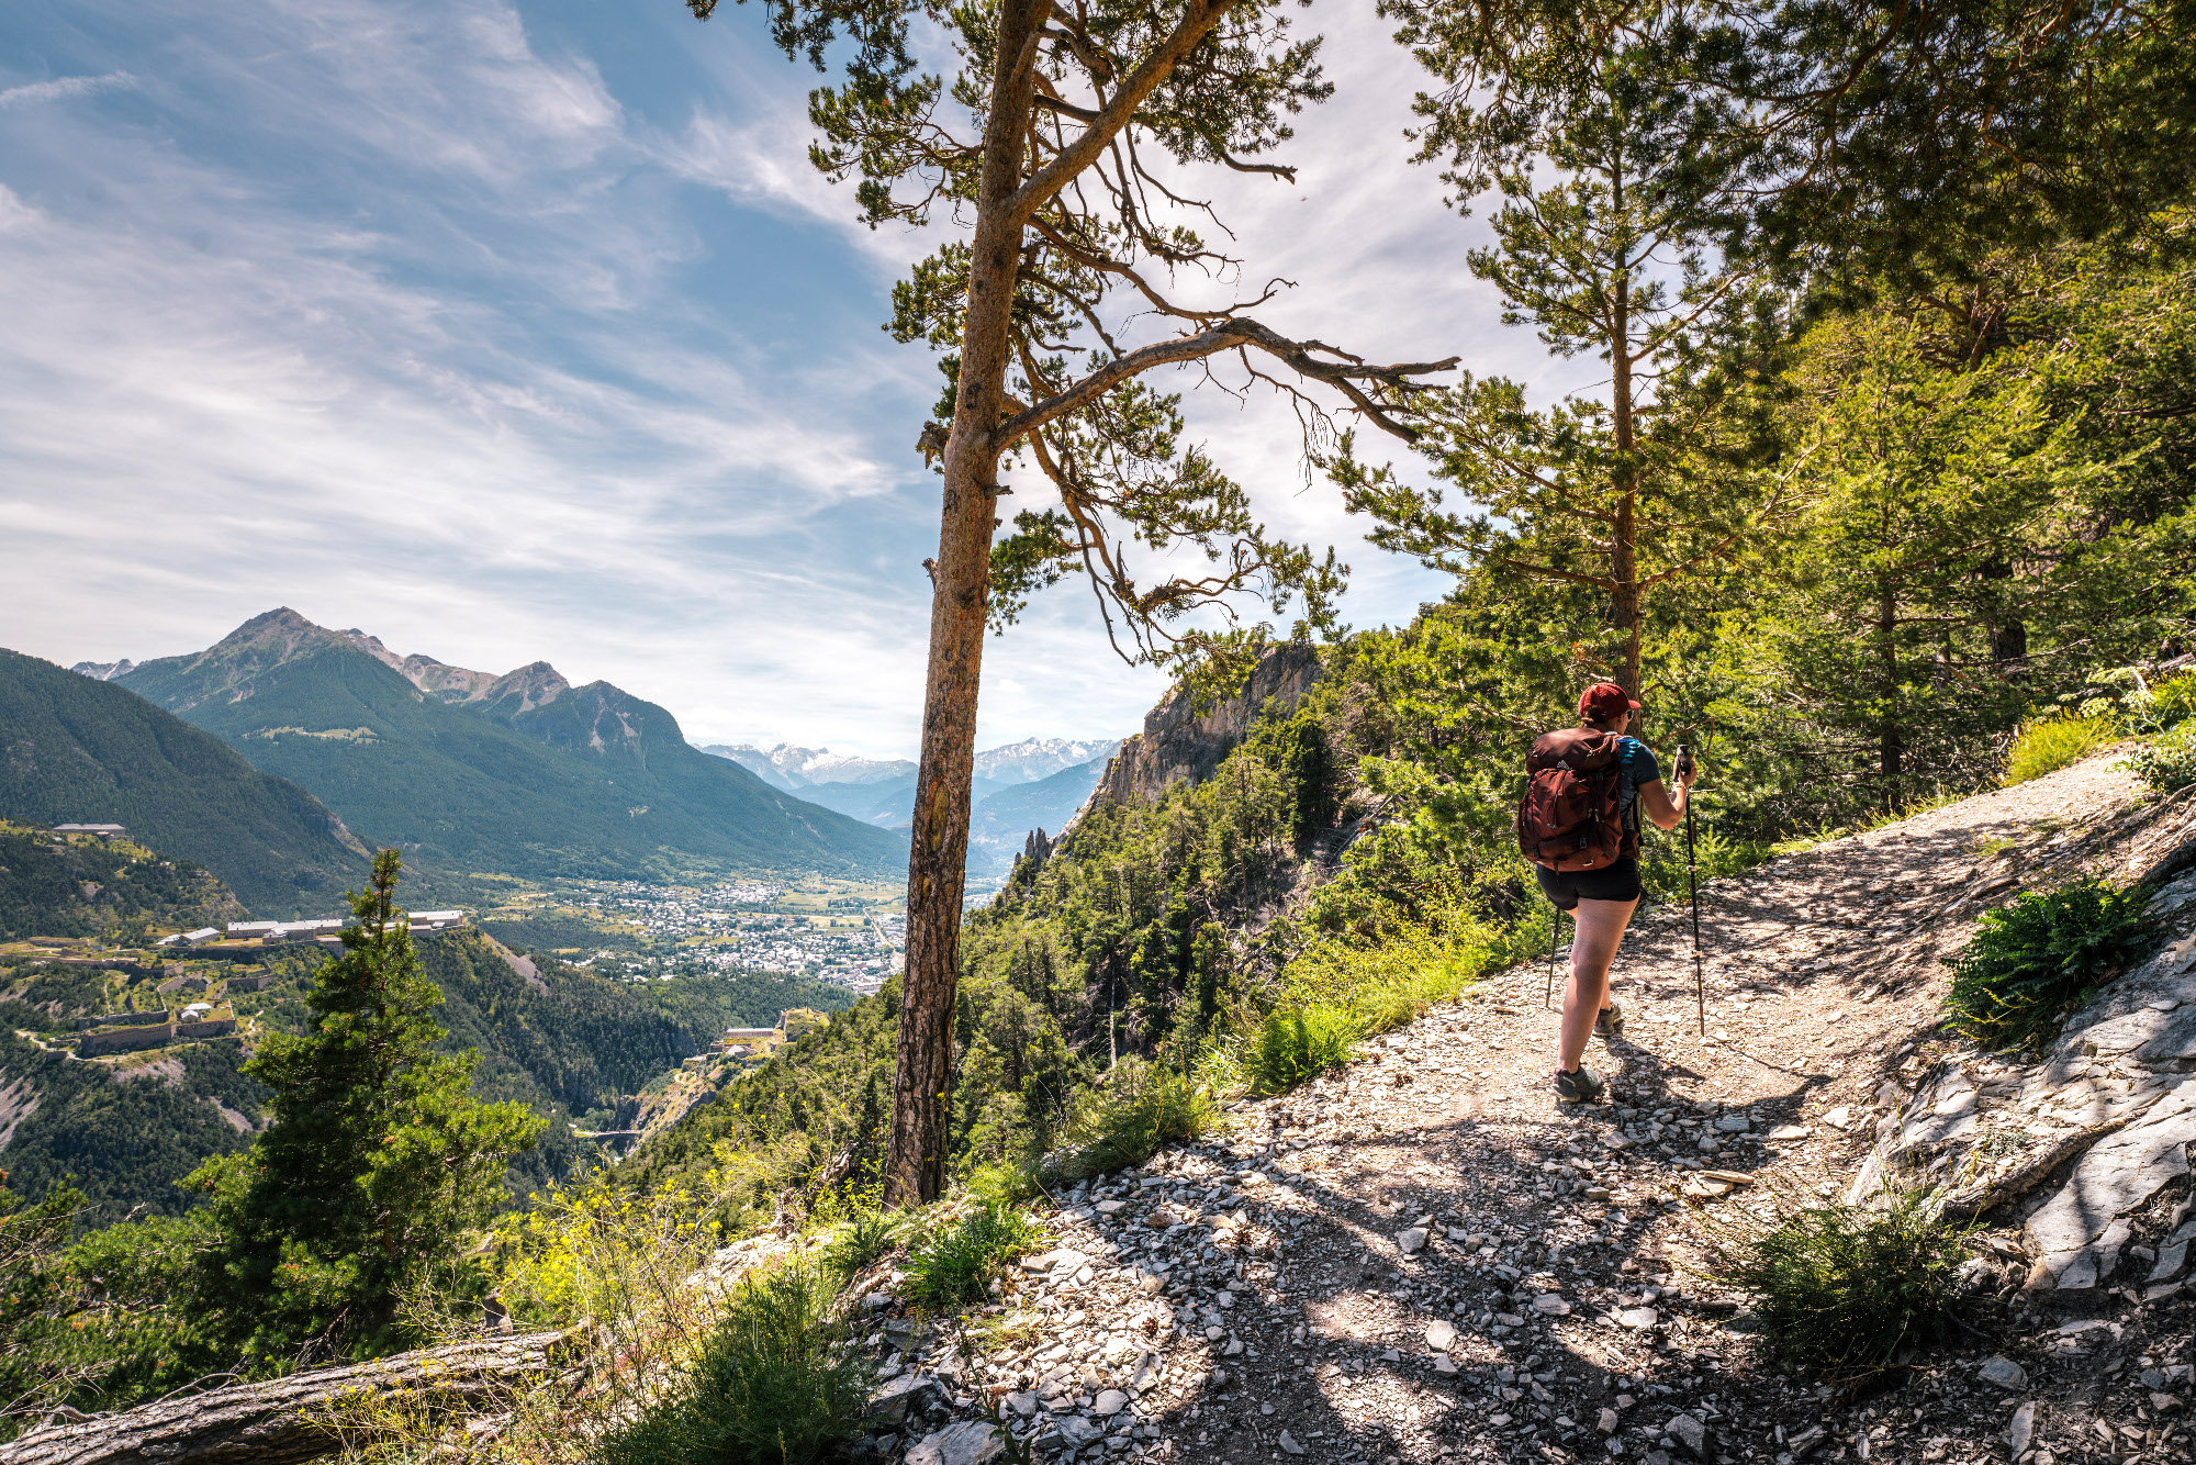
[[[272,1089],[248,1155],[193,1175],[222,1237],[209,1291],[259,1357],[382,1351],[417,1287],[463,1287],[461,1252],[503,1199],[542,1120],[472,1096],[479,1054],[439,1054],[441,991],[397,909],[395,850],[351,896],[343,955],[307,993],[310,1024],[246,1065]]]

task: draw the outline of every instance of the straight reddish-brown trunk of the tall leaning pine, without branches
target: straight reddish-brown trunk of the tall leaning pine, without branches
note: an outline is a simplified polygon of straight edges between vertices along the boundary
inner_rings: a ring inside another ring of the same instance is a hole
[[[1021,222],[1008,200],[1021,184],[1021,132],[1032,77],[1021,57],[1043,2],[1008,0],[999,11],[993,108],[984,127],[977,222],[968,253],[960,391],[946,433],[944,503],[931,567],[931,655],[922,694],[922,760],[907,850],[907,973],[892,1070],[892,1140],[885,1199],[938,1199],[946,1166],[946,1094],[953,1083],[953,995],[960,982],[962,887],[968,861],[968,784],[975,769],[975,707],[984,672],[984,608]]]

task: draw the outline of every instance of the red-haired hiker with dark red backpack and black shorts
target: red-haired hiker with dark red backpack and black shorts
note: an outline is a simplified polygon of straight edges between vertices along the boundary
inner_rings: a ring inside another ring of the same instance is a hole
[[[1678,828],[1698,778],[1698,769],[1682,769],[1671,797],[1662,764],[1632,736],[1638,709],[1614,681],[1596,681],[1579,696],[1579,727],[1544,734],[1526,756],[1517,841],[1542,894],[1575,922],[1555,1065],[1555,1094],[1566,1100],[1599,1098],[1603,1089],[1583,1063],[1586,1039],[1610,1043],[1625,1035],[1623,1008],[1610,999],[1610,962],[1640,903],[1640,815],[1656,828]]]

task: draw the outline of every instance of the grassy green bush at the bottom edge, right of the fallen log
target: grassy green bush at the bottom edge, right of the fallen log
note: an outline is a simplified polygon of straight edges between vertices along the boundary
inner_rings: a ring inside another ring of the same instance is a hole
[[[874,1386],[813,1267],[749,1276],[681,1384],[597,1443],[600,1465],[806,1465],[861,1434]]]

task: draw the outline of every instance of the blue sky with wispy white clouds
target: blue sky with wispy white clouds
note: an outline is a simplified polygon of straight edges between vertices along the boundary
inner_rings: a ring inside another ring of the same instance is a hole
[[[1405,163],[1410,59],[1368,2],[1307,22],[1337,97],[1298,184],[1217,184],[1296,281],[1261,318],[1546,378]],[[808,169],[808,86],[731,4],[9,4],[0,644],[145,659],[290,604],[615,681],[696,742],[907,753],[938,378],[878,323],[929,242]],[[1280,404],[1188,406],[1276,527],[1342,545],[1353,624],[1441,593],[1304,488]],[[1131,731],[1164,690],[1074,586],[986,657],[986,745]]]

